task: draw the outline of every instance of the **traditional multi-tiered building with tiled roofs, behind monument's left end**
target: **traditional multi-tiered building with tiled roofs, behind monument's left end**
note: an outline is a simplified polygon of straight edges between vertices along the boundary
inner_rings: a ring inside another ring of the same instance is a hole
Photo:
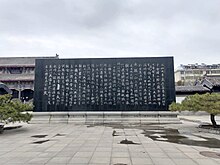
[[[11,91],[13,98],[28,101],[33,98],[35,59],[52,57],[0,57],[0,82]]]

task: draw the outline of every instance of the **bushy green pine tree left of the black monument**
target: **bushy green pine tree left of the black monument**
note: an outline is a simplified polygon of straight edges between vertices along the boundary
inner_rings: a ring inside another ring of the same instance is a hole
[[[12,100],[9,94],[0,96],[0,122],[28,122],[32,115],[25,111],[32,111],[31,103],[24,104],[20,100]]]

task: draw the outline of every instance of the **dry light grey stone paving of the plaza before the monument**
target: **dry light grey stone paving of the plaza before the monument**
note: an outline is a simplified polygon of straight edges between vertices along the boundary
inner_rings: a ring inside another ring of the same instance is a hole
[[[209,120],[208,116],[200,120]],[[182,116],[183,124],[163,125],[191,132],[194,136],[220,135],[196,131],[198,117]],[[196,119],[196,121],[193,121]],[[22,124],[0,135],[0,164],[77,164],[77,165],[219,165],[220,159],[205,157],[200,151],[220,153],[220,148],[154,141],[136,127],[87,126],[75,124]],[[114,131],[118,136],[113,136]],[[47,135],[45,137],[32,137]],[[138,144],[120,144],[122,140]],[[48,140],[48,141],[47,141]],[[44,142],[45,141],[45,142]],[[34,143],[38,142],[38,143]],[[42,142],[40,144],[40,142]]]

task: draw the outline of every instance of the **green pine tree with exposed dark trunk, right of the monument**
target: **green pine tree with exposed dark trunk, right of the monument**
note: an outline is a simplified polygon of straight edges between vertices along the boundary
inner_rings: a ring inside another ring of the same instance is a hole
[[[182,103],[172,103],[169,106],[171,111],[206,111],[210,114],[213,127],[219,127],[215,121],[215,116],[220,114],[220,94],[206,93],[187,96]]]

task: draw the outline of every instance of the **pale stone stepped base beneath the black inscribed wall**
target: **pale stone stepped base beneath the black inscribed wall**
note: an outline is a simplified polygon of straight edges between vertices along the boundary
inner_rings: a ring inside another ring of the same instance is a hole
[[[93,111],[33,112],[31,123],[66,124],[179,124],[177,112],[170,111]]]

